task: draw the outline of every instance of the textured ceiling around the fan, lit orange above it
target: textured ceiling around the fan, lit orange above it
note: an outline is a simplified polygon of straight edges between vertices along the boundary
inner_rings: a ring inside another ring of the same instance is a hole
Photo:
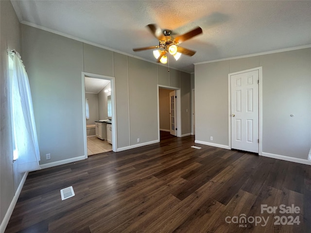
[[[196,50],[170,66],[193,72],[193,63],[311,44],[311,0],[307,1],[12,1],[20,22],[35,24],[112,50],[155,62],[158,45],[145,27],[156,23],[173,34],[203,29],[181,46]]]

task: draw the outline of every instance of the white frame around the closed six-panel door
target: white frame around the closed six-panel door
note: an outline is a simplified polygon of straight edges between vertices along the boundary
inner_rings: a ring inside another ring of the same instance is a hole
[[[231,75],[246,73],[249,71],[259,71],[259,155],[262,155],[262,67],[256,67],[252,69],[246,69],[234,73],[228,74],[228,132],[229,132],[229,150],[231,150]]]

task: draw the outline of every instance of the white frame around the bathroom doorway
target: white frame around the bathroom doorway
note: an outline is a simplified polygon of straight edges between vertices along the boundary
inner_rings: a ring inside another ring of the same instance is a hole
[[[110,76],[105,76],[105,75],[100,75],[100,74],[92,74],[92,73],[87,73],[87,72],[82,72],[82,116],[83,116],[83,139],[84,139],[84,154],[85,158],[87,159],[87,138],[86,138],[86,82],[85,78],[94,78],[94,79],[105,79],[105,80],[110,80],[111,84],[111,105],[112,105],[112,150],[114,152],[117,152],[117,116],[116,116],[116,101],[115,101],[115,93],[116,93],[116,87],[115,87],[115,77],[110,77]]]

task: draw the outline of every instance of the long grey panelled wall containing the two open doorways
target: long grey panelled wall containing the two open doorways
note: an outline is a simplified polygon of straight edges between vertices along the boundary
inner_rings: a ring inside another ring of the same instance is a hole
[[[159,140],[157,84],[180,87],[180,77],[183,83],[187,79],[190,83],[190,74],[174,69],[168,72],[167,67],[27,25],[21,28],[22,58],[34,93],[41,164],[84,155],[82,71],[115,77],[118,149]],[[182,108],[190,109],[188,101],[185,104]],[[187,115],[184,117],[182,121],[190,125]],[[59,124],[60,118],[64,123]],[[186,129],[186,133],[190,131]],[[51,160],[46,161],[46,153],[51,153]]]

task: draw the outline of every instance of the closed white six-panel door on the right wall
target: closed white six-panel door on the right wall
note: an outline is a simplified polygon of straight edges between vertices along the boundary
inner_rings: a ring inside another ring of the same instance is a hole
[[[231,78],[231,148],[259,152],[259,70]]]

